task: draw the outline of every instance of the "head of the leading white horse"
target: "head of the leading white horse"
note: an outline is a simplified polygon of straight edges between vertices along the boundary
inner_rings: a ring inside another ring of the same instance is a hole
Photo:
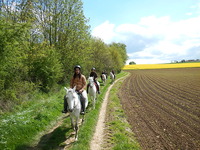
[[[78,100],[78,94],[76,93],[76,86],[72,89],[67,89],[66,90],[66,98],[67,98],[67,103],[69,107],[69,111],[72,112],[75,106],[77,105],[77,100]]]

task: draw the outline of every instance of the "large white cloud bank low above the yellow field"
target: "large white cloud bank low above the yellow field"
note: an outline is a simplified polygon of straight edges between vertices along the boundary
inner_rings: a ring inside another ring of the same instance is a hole
[[[169,63],[200,58],[199,27],[200,16],[177,22],[171,21],[169,16],[148,16],[141,18],[137,24],[116,26],[106,21],[92,33],[106,43],[125,43],[130,60],[136,63]]]

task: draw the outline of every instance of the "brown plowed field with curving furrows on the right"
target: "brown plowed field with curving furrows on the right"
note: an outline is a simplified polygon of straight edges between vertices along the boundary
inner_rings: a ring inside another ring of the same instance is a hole
[[[119,92],[144,150],[200,149],[200,68],[131,70]]]

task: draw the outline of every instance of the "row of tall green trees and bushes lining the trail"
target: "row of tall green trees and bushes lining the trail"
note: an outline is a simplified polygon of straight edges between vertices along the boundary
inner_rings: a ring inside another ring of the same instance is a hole
[[[91,36],[81,0],[0,0],[0,109],[83,73],[120,71],[126,45]]]

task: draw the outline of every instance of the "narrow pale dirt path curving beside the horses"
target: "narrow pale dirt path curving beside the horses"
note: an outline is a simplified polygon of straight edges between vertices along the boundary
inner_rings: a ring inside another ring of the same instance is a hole
[[[103,133],[104,133],[104,128],[105,128],[105,117],[106,117],[106,107],[108,104],[108,96],[109,96],[110,90],[113,87],[113,85],[120,79],[122,79],[122,78],[119,78],[115,82],[113,82],[113,84],[108,88],[108,90],[106,92],[104,101],[103,101],[101,109],[100,109],[95,133],[94,133],[94,136],[90,143],[91,150],[100,150],[101,149],[101,144],[103,143],[103,137],[104,137]]]

